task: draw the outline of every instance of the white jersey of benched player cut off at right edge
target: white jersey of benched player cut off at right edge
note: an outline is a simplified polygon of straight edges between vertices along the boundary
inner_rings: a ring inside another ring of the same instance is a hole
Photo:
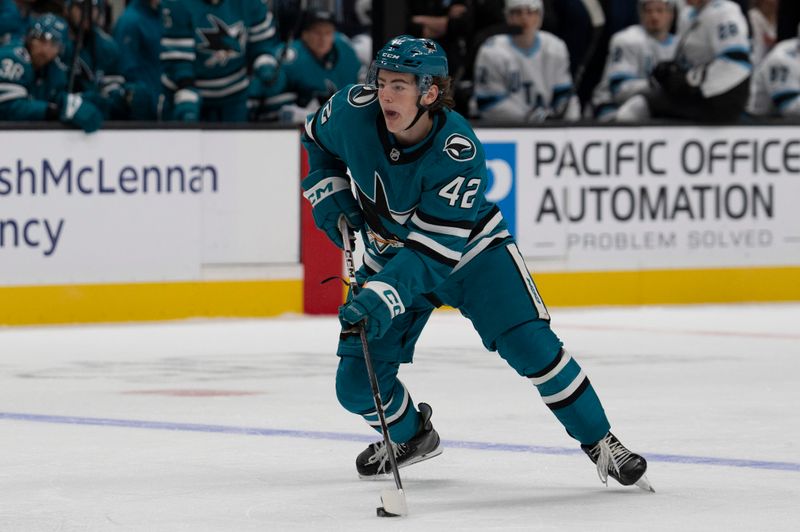
[[[800,39],[781,41],[753,74],[748,112],[800,116]]]

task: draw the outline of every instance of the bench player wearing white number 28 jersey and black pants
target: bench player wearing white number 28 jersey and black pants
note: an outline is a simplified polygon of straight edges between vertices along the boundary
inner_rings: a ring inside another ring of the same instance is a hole
[[[730,0],[686,3],[675,60],[656,65],[656,88],[625,102],[618,121],[655,117],[729,122],[742,115],[753,70],[747,20]]]

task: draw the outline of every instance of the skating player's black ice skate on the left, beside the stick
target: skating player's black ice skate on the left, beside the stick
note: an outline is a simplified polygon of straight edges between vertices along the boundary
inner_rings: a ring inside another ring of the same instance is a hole
[[[398,468],[442,454],[439,433],[431,424],[433,410],[426,403],[420,403],[418,406],[422,419],[417,434],[405,443],[392,443]],[[383,440],[370,444],[358,455],[356,469],[359,478],[363,479],[382,479],[392,474],[392,466]]]

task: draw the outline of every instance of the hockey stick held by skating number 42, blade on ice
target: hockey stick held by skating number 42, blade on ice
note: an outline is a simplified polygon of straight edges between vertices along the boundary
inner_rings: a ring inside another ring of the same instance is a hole
[[[361,290],[356,280],[356,267],[353,261],[353,237],[350,226],[344,216],[339,218],[339,232],[342,233],[342,242],[344,243],[344,263],[347,269],[347,277],[350,280],[350,290],[353,295],[357,295]],[[375,410],[378,412],[378,419],[381,423],[381,433],[383,434],[383,443],[386,446],[386,452],[389,456],[389,465],[392,468],[394,475],[394,483],[397,490],[385,489],[381,491],[381,502],[383,506],[377,508],[378,517],[396,517],[406,515],[408,513],[408,506],[406,505],[406,495],[403,492],[403,482],[400,480],[400,472],[397,470],[397,459],[394,456],[394,445],[389,436],[389,426],[386,423],[386,414],[383,411],[383,401],[381,400],[381,391],[378,388],[378,378],[375,376],[375,369],[372,367],[372,357],[369,355],[369,346],[367,344],[367,331],[364,329],[364,322],[359,322],[355,325],[358,334],[361,336],[361,347],[364,350],[364,361],[367,364],[367,374],[369,375],[369,385],[372,388],[372,398],[375,401]]]

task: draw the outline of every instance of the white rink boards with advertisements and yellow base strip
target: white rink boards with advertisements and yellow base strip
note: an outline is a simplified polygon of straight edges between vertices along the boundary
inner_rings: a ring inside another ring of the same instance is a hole
[[[549,305],[800,300],[792,128],[478,136],[487,194]],[[272,316],[314,301],[297,130],[0,137],[0,324]]]

